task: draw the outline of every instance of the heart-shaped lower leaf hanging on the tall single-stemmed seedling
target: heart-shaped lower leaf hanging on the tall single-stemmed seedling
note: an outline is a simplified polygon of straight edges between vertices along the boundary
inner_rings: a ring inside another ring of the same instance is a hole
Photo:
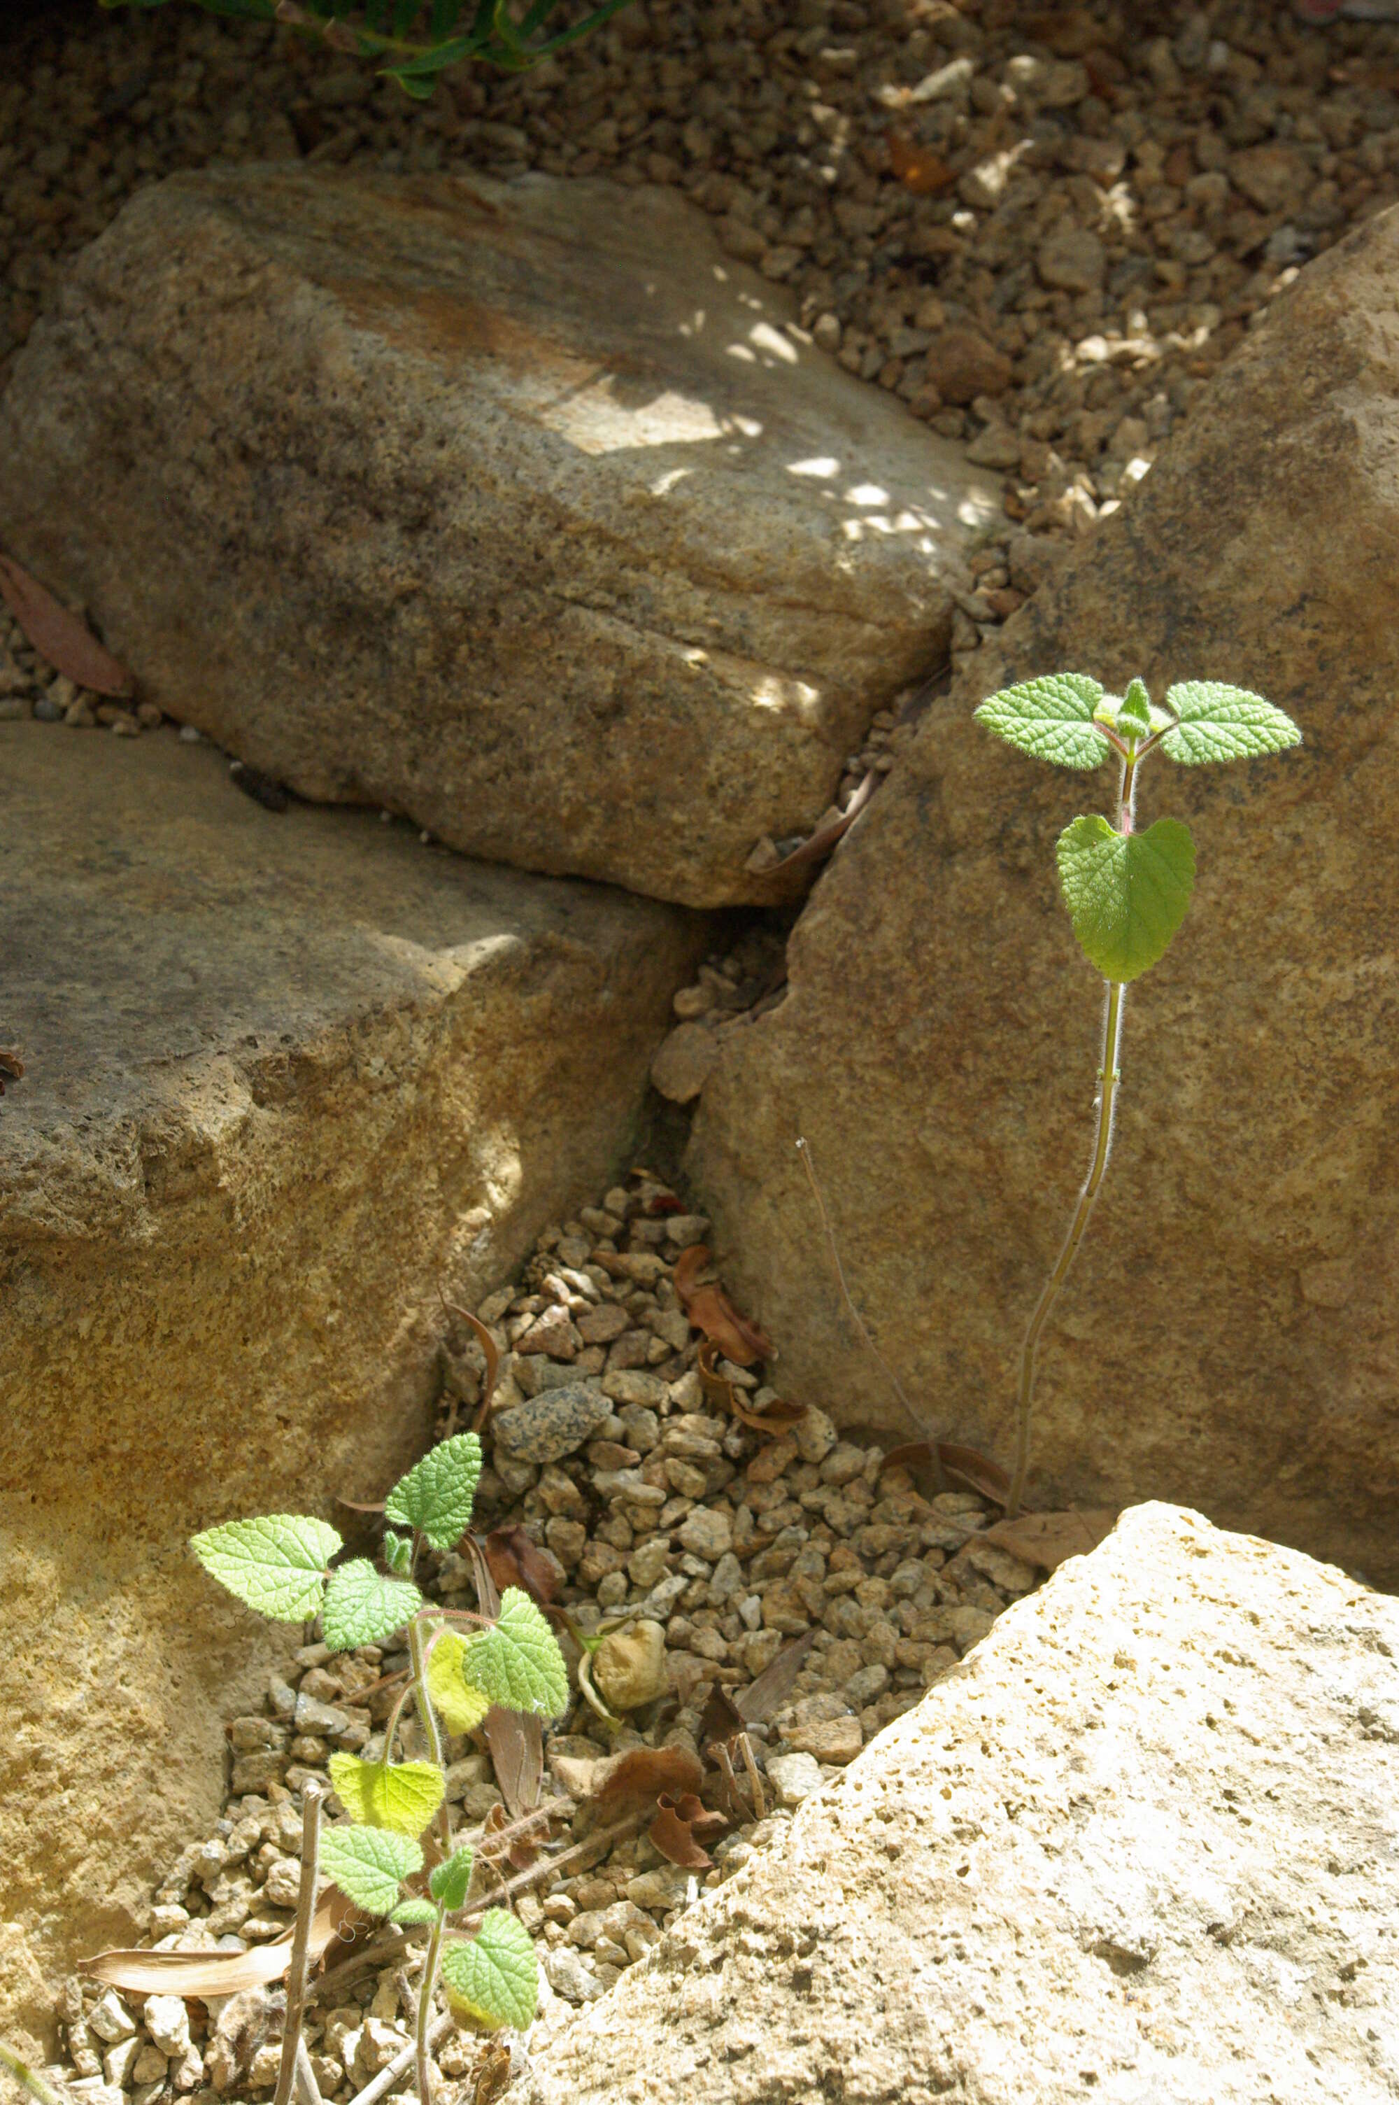
[[[1195,844],[1180,819],[1115,834],[1107,819],[1073,819],[1058,836],[1058,878],[1090,964],[1104,979],[1138,979],[1163,956],[1195,884]]]

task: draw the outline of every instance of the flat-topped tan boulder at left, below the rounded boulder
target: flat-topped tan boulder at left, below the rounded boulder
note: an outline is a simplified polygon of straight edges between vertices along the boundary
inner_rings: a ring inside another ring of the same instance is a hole
[[[610,1172],[696,937],[267,813],[173,733],[55,737],[0,728],[0,1044],[27,1063],[0,1103],[0,2031],[130,1937],[217,1810],[240,1690],[299,1642],[185,1537],[391,1482],[438,1288],[494,1284]]]

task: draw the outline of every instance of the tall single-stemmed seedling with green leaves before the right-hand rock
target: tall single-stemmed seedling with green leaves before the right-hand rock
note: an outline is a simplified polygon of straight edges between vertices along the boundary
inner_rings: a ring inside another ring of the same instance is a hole
[[[1020,1511],[1029,1467],[1039,1335],[1083,1240],[1113,1145],[1126,989],[1165,954],[1195,886],[1195,842],[1180,819],[1157,819],[1138,834],[1138,773],[1155,751],[1163,751],[1180,766],[1256,760],[1296,745],[1302,733],[1271,701],[1241,686],[1182,680],[1168,688],[1165,703],[1157,705],[1142,680],[1132,680],[1126,695],[1104,695],[1096,680],[1077,671],[1001,688],[982,701],[976,720],[1035,760],[1052,760],[1060,768],[1096,768],[1115,756],[1121,768],[1115,817],[1104,819],[1094,813],[1088,819],[1073,819],[1056,846],[1058,882],[1073,933],[1088,962],[1107,981],[1102,1065],[1088,1179],[1020,1347],[1016,1467],[1006,1505],[1006,1516],[1014,1518]]]

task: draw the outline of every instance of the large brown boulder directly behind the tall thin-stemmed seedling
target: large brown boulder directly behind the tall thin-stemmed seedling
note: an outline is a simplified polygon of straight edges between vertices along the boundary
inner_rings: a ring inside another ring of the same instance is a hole
[[[1195,831],[1128,996],[1113,1166],[1041,1354],[1033,1490],[1170,1495],[1399,1579],[1399,215],[1311,265],[1140,493],[934,705],[726,1040],[692,1168],[783,1381],[907,1429],[842,1316],[793,1137],[928,1423],[1001,1457],[1014,1358],[1092,1147],[1100,983],[1054,840],[1107,770],[1025,760],[991,688],[1077,667],[1256,686],[1298,751],[1153,762]],[[854,1398],[854,1402],[852,1402]]]

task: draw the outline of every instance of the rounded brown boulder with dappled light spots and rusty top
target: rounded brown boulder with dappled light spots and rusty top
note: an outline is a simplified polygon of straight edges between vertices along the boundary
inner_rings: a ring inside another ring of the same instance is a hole
[[[0,539],[305,796],[768,899],[997,505],[793,314],[669,192],[181,175],[15,368]]]

